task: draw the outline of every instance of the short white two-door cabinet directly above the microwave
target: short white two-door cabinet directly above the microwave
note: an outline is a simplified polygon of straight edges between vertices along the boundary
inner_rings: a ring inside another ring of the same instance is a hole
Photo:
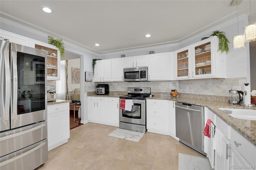
[[[139,55],[124,58],[124,68],[148,66],[148,55]]]

